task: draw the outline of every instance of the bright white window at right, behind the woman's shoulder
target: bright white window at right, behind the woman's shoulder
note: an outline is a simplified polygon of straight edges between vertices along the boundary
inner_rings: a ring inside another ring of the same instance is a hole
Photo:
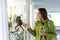
[[[60,26],[60,13],[48,13],[48,17],[54,22],[55,26]]]

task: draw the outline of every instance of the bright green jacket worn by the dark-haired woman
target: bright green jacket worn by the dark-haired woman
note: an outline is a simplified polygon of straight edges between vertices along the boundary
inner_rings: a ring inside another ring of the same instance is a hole
[[[49,28],[48,28],[48,21],[50,25],[50,33]],[[46,37],[40,35],[39,31],[43,29],[47,35]],[[53,22],[49,19],[45,20],[44,25],[42,24],[41,21],[37,21],[35,24],[34,30],[31,28],[28,28],[28,31],[35,37],[35,40],[55,40],[56,39],[56,30]]]

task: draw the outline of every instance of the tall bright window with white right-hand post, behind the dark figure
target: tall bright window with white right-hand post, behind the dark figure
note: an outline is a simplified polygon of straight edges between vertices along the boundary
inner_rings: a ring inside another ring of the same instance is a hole
[[[33,25],[33,6],[29,0],[7,0],[7,10],[8,10],[8,27],[9,27],[9,40],[16,40],[17,34],[15,31],[16,17],[20,16],[23,22],[27,22],[28,25],[32,27]],[[22,31],[22,30],[20,30]],[[21,35],[21,34],[20,34]],[[21,35],[22,36],[22,35]],[[21,37],[20,37],[21,38]],[[31,36],[27,31],[24,31],[21,40],[31,40]]]

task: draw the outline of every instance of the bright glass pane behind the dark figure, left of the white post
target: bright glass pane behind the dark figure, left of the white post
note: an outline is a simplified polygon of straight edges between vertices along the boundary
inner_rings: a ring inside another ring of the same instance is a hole
[[[7,0],[9,40],[24,40],[24,31],[17,26],[16,20],[19,16],[23,22],[26,21],[25,7],[26,0]]]

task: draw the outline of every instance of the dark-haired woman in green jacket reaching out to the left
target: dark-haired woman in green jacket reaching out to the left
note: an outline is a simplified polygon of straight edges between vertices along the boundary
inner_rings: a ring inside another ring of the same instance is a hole
[[[34,30],[30,27],[28,27],[27,30],[35,37],[35,40],[55,40],[55,26],[53,22],[48,19],[46,9],[39,8],[37,16],[39,20],[37,20]]]

